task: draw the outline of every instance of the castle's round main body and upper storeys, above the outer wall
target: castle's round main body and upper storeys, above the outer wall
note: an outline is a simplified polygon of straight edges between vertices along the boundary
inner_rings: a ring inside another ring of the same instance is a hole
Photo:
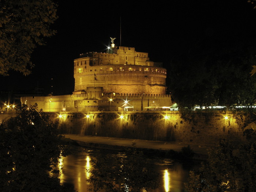
[[[115,47],[113,53],[87,53],[74,61],[75,91],[103,87],[103,93],[165,94],[166,69],[148,53]]]

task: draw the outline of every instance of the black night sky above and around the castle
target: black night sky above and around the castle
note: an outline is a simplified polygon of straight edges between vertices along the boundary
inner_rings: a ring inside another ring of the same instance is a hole
[[[223,3],[225,1],[226,3]],[[97,2],[97,3],[96,3]],[[72,3],[72,4],[71,4]],[[168,5],[167,5],[168,3]],[[32,74],[10,72],[0,77],[0,91],[29,93],[35,87],[45,94],[72,94],[74,59],[80,53],[105,52],[114,43],[148,52],[150,60],[169,68],[174,57],[186,54],[200,42],[252,39],[256,10],[247,0],[219,1],[60,1],[57,34],[45,39],[32,55]],[[214,46],[208,44],[207,48]],[[185,69],[184,69],[185,70]],[[51,80],[53,79],[53,80]],[[51,86],[53,86],[51,88]]]

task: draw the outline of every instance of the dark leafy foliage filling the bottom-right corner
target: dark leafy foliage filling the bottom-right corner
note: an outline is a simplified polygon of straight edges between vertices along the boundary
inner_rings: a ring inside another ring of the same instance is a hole
[[[189,174],[188,192],[253,192],[256,188],[256,143],[240,144],[237,153],[231,143],[221,140],[209,151],[198,172]]]

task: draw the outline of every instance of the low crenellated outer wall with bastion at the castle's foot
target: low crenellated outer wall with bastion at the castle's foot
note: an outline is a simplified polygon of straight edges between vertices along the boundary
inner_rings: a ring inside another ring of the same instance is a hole
[[[85,112],[85,111],[118,111],[124,106],[124,100],[127,100],[127,106],[132,106],[132,110],[138,111],[148,106],[171,106],[171,95],[161,94],[102,94],[101,89],[93,88],[93,91],[87,88],[86,93],[73,95],[56,95],[46,97],[21,97],[22,104],[38,104],[39,109],[44,112]],[[110,98],[113,101],[110,102]],[[65,109],[65,110],[64,110]]]

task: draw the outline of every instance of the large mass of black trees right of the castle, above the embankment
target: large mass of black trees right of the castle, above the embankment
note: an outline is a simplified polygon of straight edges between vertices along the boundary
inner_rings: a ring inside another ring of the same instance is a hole
[[[169,89],[179,108],[254,104],[256,77],[249,72],[256,46],[236,43],[208,40],[173,59]]]

